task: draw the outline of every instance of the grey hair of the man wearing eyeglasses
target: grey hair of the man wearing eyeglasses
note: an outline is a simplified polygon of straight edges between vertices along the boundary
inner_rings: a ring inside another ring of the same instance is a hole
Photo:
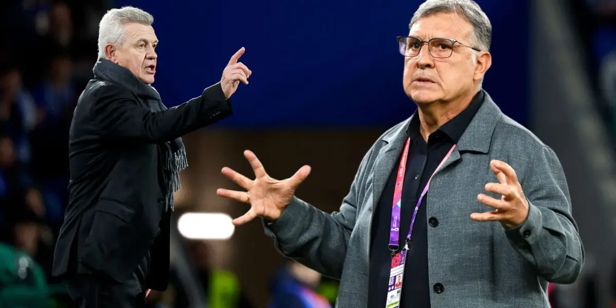
[[[427,0],[413,14],[410,28],[419,19],[437,13],[460,14],[472,26],[471,44],[472,47],[481,51],[490,51],[492,44],[492,23],[477,2],[472,0]],[[476,53],[473,53],[476,54]]]

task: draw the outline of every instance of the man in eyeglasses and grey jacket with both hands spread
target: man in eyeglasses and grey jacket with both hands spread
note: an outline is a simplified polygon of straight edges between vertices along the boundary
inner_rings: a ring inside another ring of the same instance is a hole
[[[418,109],[364,156],[333,214],[294,197],[309,166],[256,179],[222,170],[277,249],[340,279],[338,308],[549,307],[584,250],[556,154],[482,89],[492,26],[476,2],[429,0],[399,37],[403,87]]]

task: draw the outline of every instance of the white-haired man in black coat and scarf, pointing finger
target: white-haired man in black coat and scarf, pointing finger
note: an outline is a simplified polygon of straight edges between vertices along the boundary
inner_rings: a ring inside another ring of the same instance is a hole
[[[166,108],[152,87],[152,15],[112,9],[100,21],[99,60],[70,128],[70,201],[53,274],[76,307],[144,307],[169,279],[169,227],[187,167],[181,136],[232,114],[229,97],[251,71],[231,57],[219,83]]]

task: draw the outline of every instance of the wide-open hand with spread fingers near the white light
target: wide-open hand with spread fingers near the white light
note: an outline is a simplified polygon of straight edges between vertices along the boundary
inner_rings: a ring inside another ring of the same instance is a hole
[[[236,190],[219,188],[216,194],[221,197],[250,204],[250,209],[246,214],[233,219],[234,225],[246,224],[246,222],[252,221],[257,216],[264,217],[269,221],[275,221],[291,202],[295,190],[310,174],[310,166],[299,168],[298,172],[295,172],[295,174],[288,179],[277,180],[267,175],[263,165],[253,152],[246,150],[244,156],[253,168],[254,180],[248,179],[248,177],[227,167],[222,168],[222,174],[232,179],[233,182],[237,183],[245,190],[248,190],[248,192],[238,192]]]

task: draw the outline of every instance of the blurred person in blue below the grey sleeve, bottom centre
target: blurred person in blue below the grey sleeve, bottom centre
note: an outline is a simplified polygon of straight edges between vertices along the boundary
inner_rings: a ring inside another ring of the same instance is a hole
[[[327,299],[315,292],[320,280],[318,272],[289,261],[270,283],[272,300],[268,308],[330,308]]]

